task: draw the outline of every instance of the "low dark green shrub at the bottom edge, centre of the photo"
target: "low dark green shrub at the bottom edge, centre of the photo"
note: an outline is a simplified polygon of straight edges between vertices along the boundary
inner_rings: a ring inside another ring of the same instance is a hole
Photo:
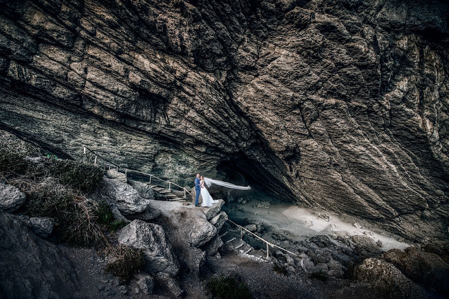
[[[207,282],[207,290],[218,299],[251,299],[245,282],[236,276],[213,277]]]

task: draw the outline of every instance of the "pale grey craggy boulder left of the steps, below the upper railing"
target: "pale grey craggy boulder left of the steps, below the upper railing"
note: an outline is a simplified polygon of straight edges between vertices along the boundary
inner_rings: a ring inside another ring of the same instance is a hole
[[[103,194],[108,204],[116,207],[124,216],[145,212],[150,200],[143,198],[125,182],[104,178]]]

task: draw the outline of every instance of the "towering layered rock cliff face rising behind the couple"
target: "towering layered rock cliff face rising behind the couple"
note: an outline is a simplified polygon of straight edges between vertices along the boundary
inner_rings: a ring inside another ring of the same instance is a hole
[[[448,237],[448,5],[0,0],[0,126]]]

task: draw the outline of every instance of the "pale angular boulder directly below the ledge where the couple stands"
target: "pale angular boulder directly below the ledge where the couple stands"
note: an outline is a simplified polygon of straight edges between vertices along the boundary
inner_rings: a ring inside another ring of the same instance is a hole
[[[201,247],[217,234],[217,228],[207,221],[206,215],[193,211],[192,225],[189,233],[189,242],[194,247]]]

